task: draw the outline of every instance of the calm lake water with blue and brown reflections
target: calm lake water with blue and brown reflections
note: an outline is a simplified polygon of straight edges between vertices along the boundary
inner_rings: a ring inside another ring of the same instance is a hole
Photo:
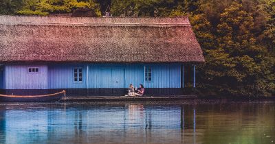
[[[275,143],[275,102],[2,103],[0,143]]]

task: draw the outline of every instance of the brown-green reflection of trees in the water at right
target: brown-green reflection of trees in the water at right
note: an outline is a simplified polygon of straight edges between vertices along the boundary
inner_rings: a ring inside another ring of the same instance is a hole
[[[197,127],[204,127],[206,143],[270,143],[275,115],[272,104],[232,103],[199,106]],[[265,134],[265,135],[264,135]]]

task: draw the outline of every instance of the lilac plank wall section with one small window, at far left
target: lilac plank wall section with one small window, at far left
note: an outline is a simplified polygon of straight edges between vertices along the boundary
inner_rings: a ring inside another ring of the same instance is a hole
[[[29,67],[39,73],[28,73]],[[6,65],[5,89],[47,89],[47,65]]]

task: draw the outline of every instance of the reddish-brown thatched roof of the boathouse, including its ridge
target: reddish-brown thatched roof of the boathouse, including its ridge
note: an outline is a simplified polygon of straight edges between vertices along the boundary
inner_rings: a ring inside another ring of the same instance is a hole
[[[0,63],[204,62],[188,17],[0,16]]]

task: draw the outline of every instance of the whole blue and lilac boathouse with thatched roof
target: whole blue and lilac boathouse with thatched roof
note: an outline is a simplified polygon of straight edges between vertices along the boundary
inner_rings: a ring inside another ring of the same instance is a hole
[[[0,89],[6,95],[184,95],[204,62],[188,17],[0,16]],[[186,70],[186,66],[192,69]]]

